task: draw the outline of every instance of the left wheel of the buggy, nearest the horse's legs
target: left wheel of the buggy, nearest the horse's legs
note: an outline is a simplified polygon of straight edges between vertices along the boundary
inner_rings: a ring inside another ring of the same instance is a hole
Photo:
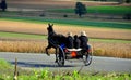
[[[61,46],[59,46],[59,53],[58,53],[58,66],[64,66],[64,52]]]

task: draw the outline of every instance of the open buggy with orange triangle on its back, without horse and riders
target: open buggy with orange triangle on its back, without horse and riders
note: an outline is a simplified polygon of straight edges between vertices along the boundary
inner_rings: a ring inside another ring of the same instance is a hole
[[[57,55],[58,66],[64,66],[66,59],[82,59],[85,66],[92,63],[93,48],[87,44],[87,50],[82,49],[67,49],[58,45],[59,52]]]

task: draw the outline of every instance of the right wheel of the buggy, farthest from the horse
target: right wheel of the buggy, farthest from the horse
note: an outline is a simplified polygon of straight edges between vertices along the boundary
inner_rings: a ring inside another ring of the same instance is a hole
[[[93,48],[88,45],[88,51],[83,55],[83,62],[85,66],[91,65],[93,58]]]

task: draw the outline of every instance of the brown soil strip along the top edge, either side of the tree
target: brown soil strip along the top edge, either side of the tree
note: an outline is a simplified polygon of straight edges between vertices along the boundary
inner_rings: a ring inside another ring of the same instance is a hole
[[[33,8],[33,9],[60,9],[60,8],[74,8],[75,0],[8,0],[10,8]],[[118,5],[117,2],[94,2],[83,1],[86,6],[94,5]]]

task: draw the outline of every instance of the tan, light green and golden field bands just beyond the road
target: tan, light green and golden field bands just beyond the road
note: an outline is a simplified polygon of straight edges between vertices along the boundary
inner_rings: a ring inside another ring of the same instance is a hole
[[[3,52],[28,52],[28,53],[44,53],[47,46],[47,26],[48,22],[41,21],[27,21],[24,19],[0,19],[1,24],[1,41],[0,51]],[[12,24],[10,26],[9,24]],[[21,25],[20,25],[21,24]],[[106,23],[108,24],[108,23]],[[116,24],[116,23],[115,23]],[[117,23],[118,25],[121,23]],[[129,23],[127,23],[130,25]],[[127,25],[123,23],[123,25]],[[105,24],[103,24],[105,25]],[[103,26],[102,25],[102,26]],[[32,28],[31,28],[32,27]],[[75,27],[75,29],[73,29]],[[90,37],[90,42],[94,46],[94,55],[114,56],[130,58],[131,37],[130,26],[122,28],[112,27],[94,27],[94,26],[80,26],[73,24],[55,23],[56,32],[67,36],[69,29],[75,34],[85,30]],[[9,31],[9,32],[5,32]],[[20,32],[20,34],[17,34]],[[29,39],[29,40],[28,40]],[[11,41],[10,41],[11,40]],[[24,40],[24,41],[23,41]],[[32,48],[29,48],[32,46]],[[50,51],[53,53],[53,50]]]

